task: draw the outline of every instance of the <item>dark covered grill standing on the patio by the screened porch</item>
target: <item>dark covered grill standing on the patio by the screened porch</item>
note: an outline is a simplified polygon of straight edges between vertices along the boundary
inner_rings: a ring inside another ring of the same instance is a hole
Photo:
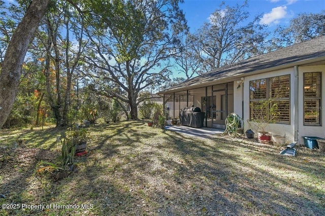
[[[203,127],[205,113],[201,112],[200,107],[185,107],[179,112],[181,125],[190,127]]]

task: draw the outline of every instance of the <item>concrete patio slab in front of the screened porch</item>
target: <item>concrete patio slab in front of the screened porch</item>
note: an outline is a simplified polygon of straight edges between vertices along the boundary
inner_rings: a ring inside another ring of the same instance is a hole
[[[165,126],[165,129],[172,130],[178,133],[184,133],[190,136],[202,136],[202,137],[221,134],[224,131],[216,128],[208,128],[208,127],[193,128],[193,127],[178,126],[178,125]]]

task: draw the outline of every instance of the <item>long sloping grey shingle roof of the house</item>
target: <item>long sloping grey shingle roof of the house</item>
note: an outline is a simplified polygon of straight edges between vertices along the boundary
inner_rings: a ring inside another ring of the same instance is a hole
[[[180,83],[177,87],[172,87],[165,91],[181,90],[188,86],[198,86],[202,83],[222,80],[234,76],[244,76],[254,71],[274,68],[280,65],[289,65],[308,59],[315,59],[325,56],[325,36],[312,39],[310,41],[295,44],[286,48],[248,58],[237,63],[219,67],[208,73]]]

